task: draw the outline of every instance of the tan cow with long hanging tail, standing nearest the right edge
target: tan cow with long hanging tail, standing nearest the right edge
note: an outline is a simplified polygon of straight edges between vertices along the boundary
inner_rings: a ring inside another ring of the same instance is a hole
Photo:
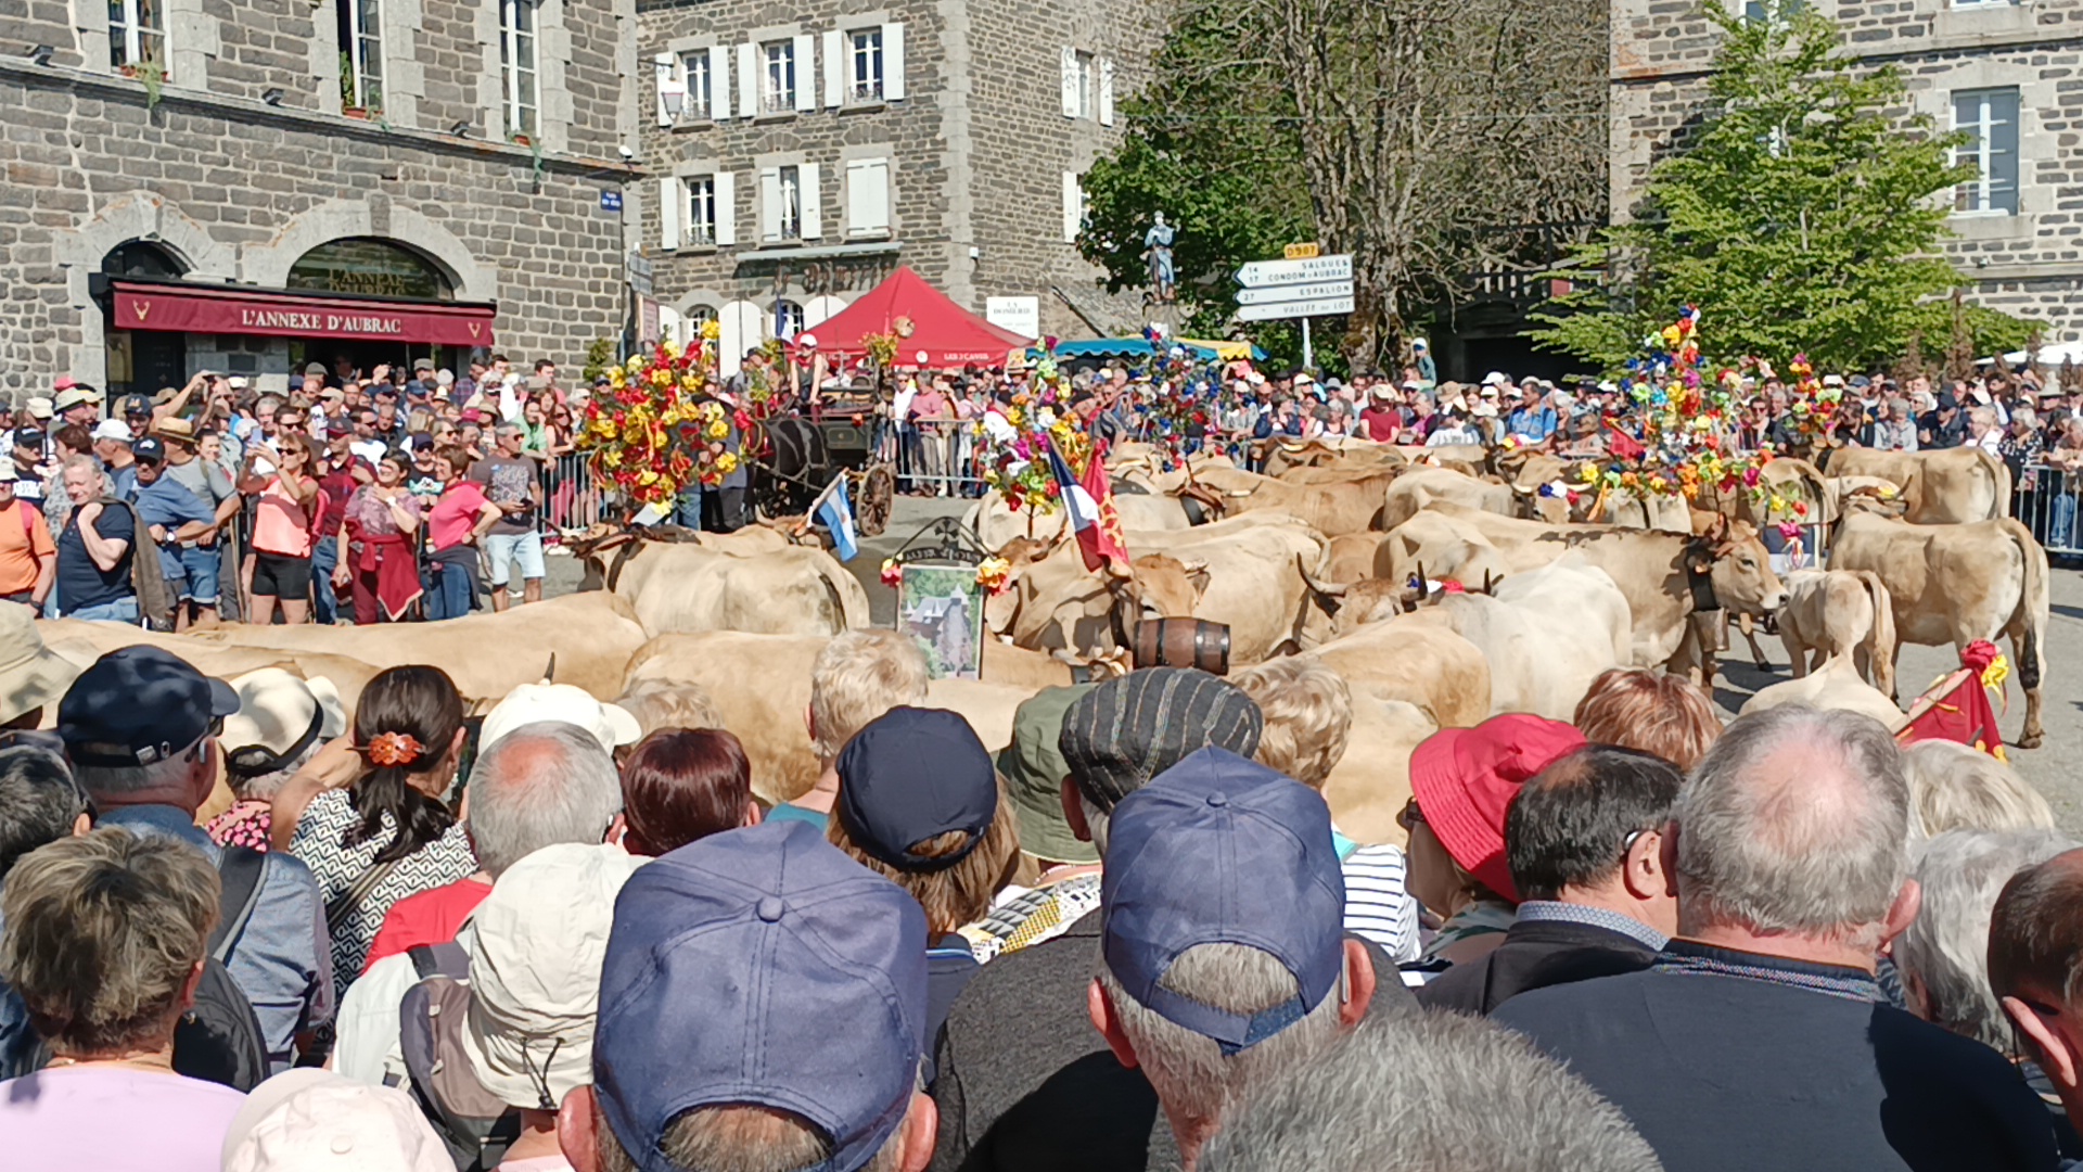
[[[1958,526],[1916,526],[1871,513],[1846,513],[1831,538],[1831,569],[1866,569],[1887,588],[1896,636],[1956,651],[2010,636],[2025,688],[2021,749],[2046,738],[2039,724],[2048,669],[2048,551],[2008,517]]]

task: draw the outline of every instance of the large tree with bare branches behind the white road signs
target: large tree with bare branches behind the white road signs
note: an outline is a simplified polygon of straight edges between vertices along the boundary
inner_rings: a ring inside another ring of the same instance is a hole
[[[1321,240],[1354,257],[1346,357],[1389,365],[1466,273],[1527,265],[1527,225],[1604,217],[1604,102],[1593,0],[1185,0],[1081,246],[1135,286],[1177,215],[1181,294],[1225,319],[1235,265]]]

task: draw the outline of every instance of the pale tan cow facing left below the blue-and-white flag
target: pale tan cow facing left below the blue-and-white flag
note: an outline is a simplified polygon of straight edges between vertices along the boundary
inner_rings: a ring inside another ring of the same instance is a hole
[[[733,534],[735,536],[735,534]],[[583,553],[581,592],[625,599],[652,636],[698,630],[837,634],[869,626],[869,594],[821,548],[742,555],[698,542],[627,542]]]

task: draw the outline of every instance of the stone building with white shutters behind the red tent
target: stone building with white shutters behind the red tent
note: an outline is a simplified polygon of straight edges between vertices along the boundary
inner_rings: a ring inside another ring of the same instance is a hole
[[[1139,327],[1071,242],[1156,8],[637,0],[637,25],[652,334],[717,319],[735,369],[898,265],[1019,334]]]

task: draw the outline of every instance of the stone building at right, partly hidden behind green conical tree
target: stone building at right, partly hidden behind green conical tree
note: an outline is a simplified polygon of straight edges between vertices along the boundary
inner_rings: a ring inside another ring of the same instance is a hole
[[[2083,338],[2083,0],[1814,2],[1846,52],[1902,69],[1916,111],[1968,136],[1981,177],[1954,194],[1948,252],[1973,298]],[[1693,0],[1612,2],[1614,215],[1698,113],[1714,44]]]

